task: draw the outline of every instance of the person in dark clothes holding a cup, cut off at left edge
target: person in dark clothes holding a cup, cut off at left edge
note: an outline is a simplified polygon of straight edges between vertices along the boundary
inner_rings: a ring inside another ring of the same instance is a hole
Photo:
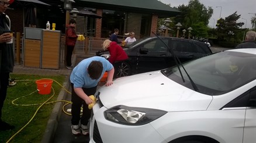
[[[14,128],[14,126],[2,121],[2,108],[7,94],[10,73],[14,66],[11,20],[4,13],[8,6],[9,0],[0,1],[0,131]]]

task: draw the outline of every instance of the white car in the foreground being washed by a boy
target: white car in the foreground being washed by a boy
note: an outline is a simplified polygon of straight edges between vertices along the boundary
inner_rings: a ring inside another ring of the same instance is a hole
[[[256,49],[217,52],[183,66],[99,88],[90,142],[256,142]]]

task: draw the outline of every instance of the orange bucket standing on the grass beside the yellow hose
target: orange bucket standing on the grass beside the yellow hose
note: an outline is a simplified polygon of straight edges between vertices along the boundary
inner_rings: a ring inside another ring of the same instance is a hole
[[[53,80],[49,79],[40,79],[36,81],[37,90],[39,94],[50,94],[51,93],[51,84],[53,84]]]

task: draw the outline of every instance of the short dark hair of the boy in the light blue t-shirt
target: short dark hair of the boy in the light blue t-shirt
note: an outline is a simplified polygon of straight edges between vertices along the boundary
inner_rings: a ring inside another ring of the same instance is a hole
[[[88,66],[88,74],[93,80],[98,80],[101,77],[103,65],[97,60],[93,60]]]

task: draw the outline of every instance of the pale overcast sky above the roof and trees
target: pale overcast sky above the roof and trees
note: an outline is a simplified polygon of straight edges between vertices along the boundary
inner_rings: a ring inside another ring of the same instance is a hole
[[[179,5],[188,5],[189,0],[158,0],[165,4],[171,4],[171,7],[179,6]],[[209,27],[216,27],[216,21],[221,17],[224,19],[227,16],[230,16],[234,12],[237,11],[237,15],[241,15],[238,22],[243,22],[245,28],[245,24],[247,28],[251,28],[251,17],[253,14],[248,13],[256,13],[256,0],[199,0],[200,3],[203,3],[206,8],[208,6],[212,7],[213,15],[209,20]],[[216,6],[222,6],[216,8]],[[222,10],[222,13],[220,13]],[[243,18],[243,19],[242,19]]]

